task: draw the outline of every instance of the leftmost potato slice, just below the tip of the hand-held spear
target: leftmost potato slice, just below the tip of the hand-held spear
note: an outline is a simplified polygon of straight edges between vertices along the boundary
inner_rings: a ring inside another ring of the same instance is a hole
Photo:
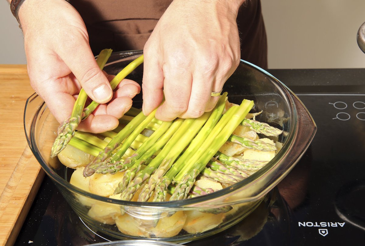
[[[85,153],[71,145],[66,145],[65,149],[57,155],[59,161],[69,168],[79,168],[86,166],[93,156]]]

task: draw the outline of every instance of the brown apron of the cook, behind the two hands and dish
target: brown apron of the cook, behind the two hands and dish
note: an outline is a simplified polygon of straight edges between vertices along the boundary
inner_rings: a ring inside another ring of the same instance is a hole
[[[143,49],[153,28],[172,0],[68,0],[80,13],[94,54]],[[267,43],[260,0],[240,8],[238,30],[241,59],[267,68]]]

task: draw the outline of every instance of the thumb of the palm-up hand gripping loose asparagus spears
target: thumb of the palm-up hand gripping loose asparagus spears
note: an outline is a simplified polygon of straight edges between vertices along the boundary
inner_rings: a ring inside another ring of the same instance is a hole
[[[87,95],[97,103],[107,103],[112,98],[112,88],[92,54],[87,39],[81,38],[62,50],[60,57],[69,67]],[[77,45],[76,45],[77,44]]]

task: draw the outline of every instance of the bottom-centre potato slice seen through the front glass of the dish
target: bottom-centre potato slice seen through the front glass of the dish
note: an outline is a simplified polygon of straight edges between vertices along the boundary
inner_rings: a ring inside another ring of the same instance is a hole
[[[151,232],[160,238],[169,238],[176,236],[183,229],[186,215],[183,211],[177,211],[172,216],[167,216],[168,213],[162,213],[158,220],[157,226],[151,228]]]

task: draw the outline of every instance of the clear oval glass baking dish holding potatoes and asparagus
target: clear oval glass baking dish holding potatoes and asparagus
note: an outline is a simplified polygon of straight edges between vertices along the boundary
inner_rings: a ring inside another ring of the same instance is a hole
[[[141,54],[142,51],[113,53],[104,70],[108,74],[116,74]],[[127,78],[142,83],[142,74],[143,66],[139,66]],[[284,130],[285,134],[275,139],[283,143],[283,147],[269,164],[245,180],[191,199],[161,203],[121,201],[94,195],[71,185],[71,170],[57,158],[50,158],[50,149],[59,124],[36,94],[27,99],[24,128],[28,144],[46,174],[77,215],[93,229],[117,239],[148,238],[187,242],[222,231],[249,215],[295,166],[316,132],[310,113],[290,89],[253,64],[241,61],[224,85],[223,91],[228,92],[228,99],[233,103],[240,103],[242,99],[253,100],[255,105],[252,111],[262,110],[257,120]],[[134,107],[141,105],[142,97],[137,95]],[[126,213],[121,218],[118,217],[116,224],[100,222],[88,214],[91,205],[96,203]],[[209,213],[212,209],[226,206],[231,206],[232,209],[220,214]],[[171,214],[174,215],[170,216]],[[192,214],[199,216],[190,218]],[[155,226],[153,221],[160,224]]]

